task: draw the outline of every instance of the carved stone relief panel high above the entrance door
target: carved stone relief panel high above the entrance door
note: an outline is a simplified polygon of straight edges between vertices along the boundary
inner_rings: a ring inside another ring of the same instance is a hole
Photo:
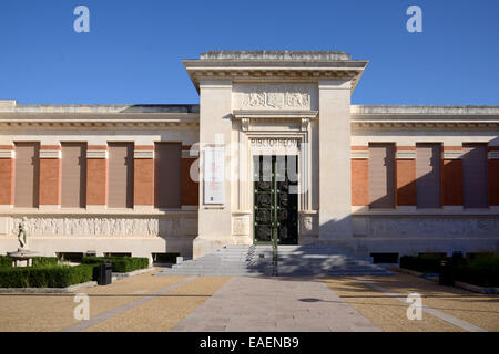
[[[235,110],[317,110],[312,84],[236,84]]]

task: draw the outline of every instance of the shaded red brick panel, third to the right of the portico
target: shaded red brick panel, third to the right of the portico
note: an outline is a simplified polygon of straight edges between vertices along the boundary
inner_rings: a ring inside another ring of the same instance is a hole
[[[442,205],[462,206],[462,160],[442,160]]]

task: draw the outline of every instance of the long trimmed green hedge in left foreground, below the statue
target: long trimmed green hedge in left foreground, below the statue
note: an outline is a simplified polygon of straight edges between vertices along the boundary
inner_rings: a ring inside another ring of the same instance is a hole
[[[0,288],[65,288],[93,279],[93,264],[0,268]]]

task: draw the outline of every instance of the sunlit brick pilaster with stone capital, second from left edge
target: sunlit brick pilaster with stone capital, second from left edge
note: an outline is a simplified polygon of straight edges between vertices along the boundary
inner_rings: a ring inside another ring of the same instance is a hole
[[[61,205],[60,145],[40,146],[40,208]]]

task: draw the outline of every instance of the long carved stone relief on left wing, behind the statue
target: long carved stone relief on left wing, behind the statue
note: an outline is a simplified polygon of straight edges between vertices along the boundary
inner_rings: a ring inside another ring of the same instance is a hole
[[[10,230],[21,218],[11,218]],[[34,217],[28,218],[32,236],[183,236],[197,232],[195,218]]]

